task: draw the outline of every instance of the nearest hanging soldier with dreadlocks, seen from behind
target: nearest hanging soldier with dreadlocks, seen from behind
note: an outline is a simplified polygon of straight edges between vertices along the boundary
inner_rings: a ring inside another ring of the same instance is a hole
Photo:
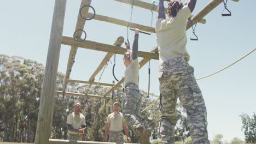
[[[187,19],[194,10],[196,0],[179,0],[168,3],[168,19],[165,19],[164,0],[160,0],[156,20],[156,41],[159,46],[160,82],[160,143],[174,143],[174,127],[177,122],[177,98],[187,111],[193,144],[209,144],[206,106],[194,77],[194,68],[188,64],[186,50]]]

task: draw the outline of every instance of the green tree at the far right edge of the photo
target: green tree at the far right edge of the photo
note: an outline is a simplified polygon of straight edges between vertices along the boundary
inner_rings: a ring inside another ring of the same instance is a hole
[[[252,118],[250,118],[246,113],[240,115],[242,119],[242,130],[245,134],[245,141],[248,143],[256,142],[256,115],[253,112]]]

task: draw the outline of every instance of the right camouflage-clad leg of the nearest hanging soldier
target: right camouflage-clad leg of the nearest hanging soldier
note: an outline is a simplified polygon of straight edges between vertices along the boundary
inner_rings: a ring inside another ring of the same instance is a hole
[[[194,77],[194,68],[189,67],[187,73],[177,76],[179,100],[187,111],[189,127],[193,143],[208,144],[206,106],[201,90]]]

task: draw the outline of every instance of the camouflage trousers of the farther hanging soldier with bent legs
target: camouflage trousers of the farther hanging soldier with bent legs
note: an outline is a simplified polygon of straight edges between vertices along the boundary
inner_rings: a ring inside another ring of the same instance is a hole
[[[127,125],[135,131],[138,128],[143,128],[141,122],[141,93],[135,83],[127,83],[125,86],[125,95],[123,97],[123,116]]]

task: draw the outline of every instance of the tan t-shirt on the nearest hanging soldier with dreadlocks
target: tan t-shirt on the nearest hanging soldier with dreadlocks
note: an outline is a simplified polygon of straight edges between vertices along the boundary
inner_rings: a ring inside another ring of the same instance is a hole
[[[158,19],[155,22],[156,42],[159,50],[159,63],[168,61],[177,56],[185,56],[189,59],[186,50],[187,44],[187,19],[191,16],[191,11],[184,5],[177,13],[176,17],[168,19]]]

